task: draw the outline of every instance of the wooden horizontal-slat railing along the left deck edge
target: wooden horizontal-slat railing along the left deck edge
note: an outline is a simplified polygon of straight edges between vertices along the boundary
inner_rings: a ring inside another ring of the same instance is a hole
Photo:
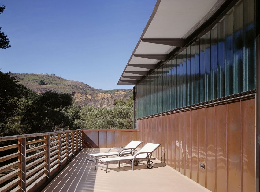
[[[0,137],[0,191],[39,190],[82,149],[81,138],[82,130]]]

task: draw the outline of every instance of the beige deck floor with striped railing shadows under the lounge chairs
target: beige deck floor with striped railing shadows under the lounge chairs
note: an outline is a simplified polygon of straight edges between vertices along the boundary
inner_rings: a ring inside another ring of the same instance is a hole
[[[139,162],[134,167],[134,171],[132,171],[130,163],[123,163],[120,168],[115,164],[109,164],[107,173],[100,167],[94,170],[95,163],[87,161],[86,154],[106,152],[107,150],[107,148],[84,148],[42,192],[209,192],[206,188],[158,160],[153,160],[152,169],[147,169],[146,162]]]

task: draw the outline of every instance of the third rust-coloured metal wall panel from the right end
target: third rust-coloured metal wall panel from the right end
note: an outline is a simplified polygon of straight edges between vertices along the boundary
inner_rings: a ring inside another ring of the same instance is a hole
[[[216,118],[216,191],[227,190],[226,105],[215,106]]]

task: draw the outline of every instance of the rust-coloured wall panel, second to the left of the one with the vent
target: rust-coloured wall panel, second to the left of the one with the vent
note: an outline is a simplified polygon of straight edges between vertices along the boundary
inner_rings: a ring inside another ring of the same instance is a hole
[[[191,178],[191,112],[185,112],[185,176]]]

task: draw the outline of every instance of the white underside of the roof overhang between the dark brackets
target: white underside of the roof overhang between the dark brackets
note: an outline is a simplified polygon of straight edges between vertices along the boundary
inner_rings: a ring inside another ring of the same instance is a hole
[[[140,38],[187,38],[212,16],[225,0],[157,0]],[[138,41],[133,54],[169,54],[175,47]],[[129,64],[157,64],[160,60],[131,55]],[[125,71],[149,71],[126,65],[122,76],[143,76]],[[118,81],[118,85],[135,83]]]

